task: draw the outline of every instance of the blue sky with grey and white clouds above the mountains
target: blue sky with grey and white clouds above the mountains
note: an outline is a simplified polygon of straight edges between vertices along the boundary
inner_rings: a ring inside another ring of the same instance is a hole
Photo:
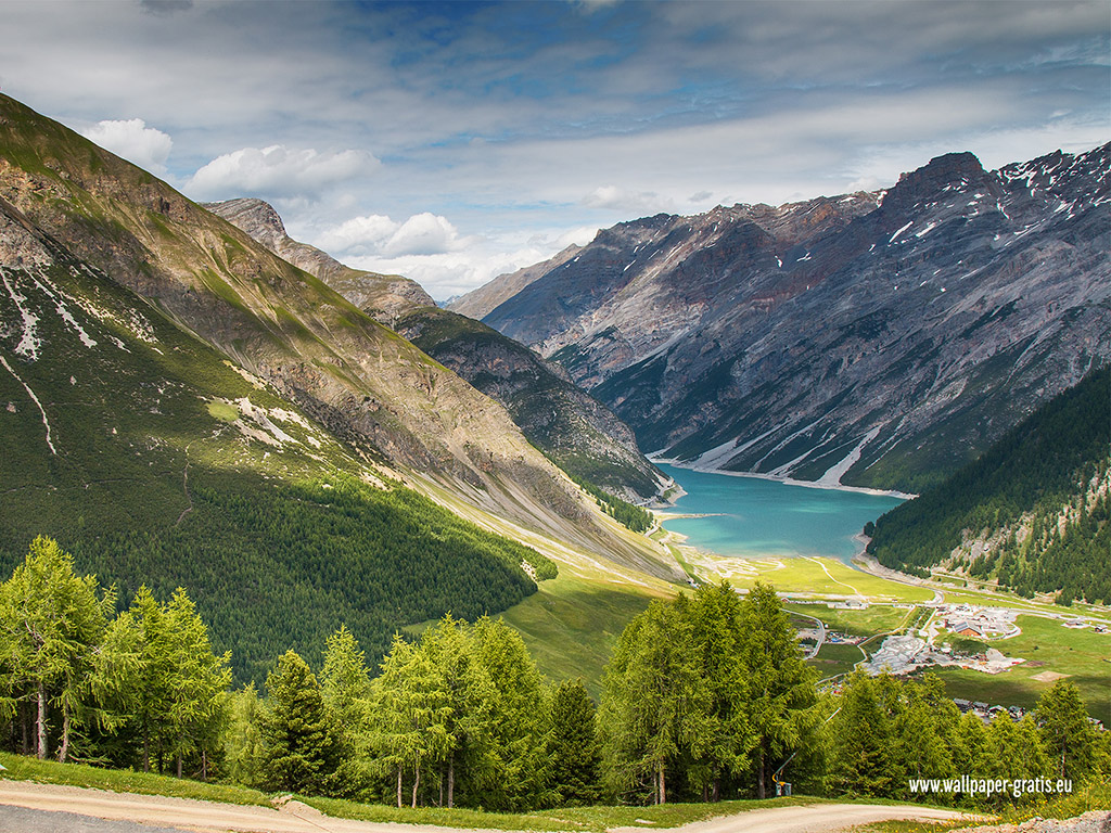
[[[0,91],[438,300],[659,212],[1111,140],[1111,3],[0,0]]]

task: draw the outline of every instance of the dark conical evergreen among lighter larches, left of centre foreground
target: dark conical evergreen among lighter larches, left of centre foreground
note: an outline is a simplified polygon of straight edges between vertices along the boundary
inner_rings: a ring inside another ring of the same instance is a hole
[[[264,783],[271,790],[326,792],[340,747],[317,678],[304,660],[287,651],[267,678],[267,693],[260,726]]]

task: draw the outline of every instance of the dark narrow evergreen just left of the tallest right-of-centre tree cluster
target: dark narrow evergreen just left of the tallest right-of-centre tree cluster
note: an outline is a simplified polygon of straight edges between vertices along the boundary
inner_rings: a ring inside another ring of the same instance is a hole
[[[601,797],[601,750],[594,729],[597,709],[581,680],[552,693],[552,782],[563,805],[593,804]]]

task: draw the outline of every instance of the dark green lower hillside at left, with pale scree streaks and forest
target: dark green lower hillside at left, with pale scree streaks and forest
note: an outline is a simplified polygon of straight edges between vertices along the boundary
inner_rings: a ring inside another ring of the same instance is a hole
[[[0,572],[56,538],[126,604],[189,589],[240,680],[341,623],[369,653],[554,565],[393,486],[278,391],[0,205]],[[38,260],[38,263],[32,261]],[[52,262],[47,262],[52,261]],[[24,268],[26,267],[26,268]]]

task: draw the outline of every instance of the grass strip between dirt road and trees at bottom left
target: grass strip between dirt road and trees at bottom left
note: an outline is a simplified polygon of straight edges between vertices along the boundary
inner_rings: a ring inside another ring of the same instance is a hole
[[[37,757],[0,752],[0,764],[6,771],[0,776],[8,781],[33,781],[39,784],[64,784],[114,793],[140,795],[169,795],[177,799],[219,801],[224,804],[270,805],[266,793],[233,784],[204,783],[131,770],[107,770],[77,763],[40,761]]]

